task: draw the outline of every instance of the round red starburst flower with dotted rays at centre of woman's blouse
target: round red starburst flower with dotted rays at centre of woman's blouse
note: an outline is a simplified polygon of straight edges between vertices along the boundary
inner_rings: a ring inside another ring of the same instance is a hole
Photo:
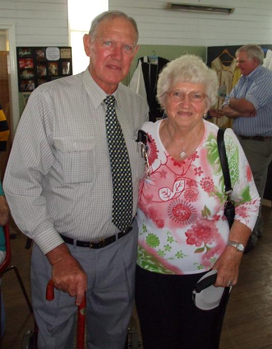
[[[167,211],[172,221],[183,225],[191,224],[197,217],[195,208],[180,199],[172,200]]]

